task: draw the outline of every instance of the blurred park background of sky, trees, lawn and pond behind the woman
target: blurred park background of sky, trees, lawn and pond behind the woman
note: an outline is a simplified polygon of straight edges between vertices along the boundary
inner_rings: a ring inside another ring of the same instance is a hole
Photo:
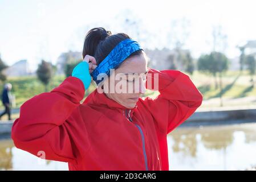
[[[204,96],[168,135],[170,170],[255,170],[255,7],[253,0],[0,0],[0,90],[11,109],[9,118],[0,103],[0,169],[68,169],[14,147],[11,126],[25,101],[71,75],[86,33],[104,27],[137,40],[149,67],[189,75]]]

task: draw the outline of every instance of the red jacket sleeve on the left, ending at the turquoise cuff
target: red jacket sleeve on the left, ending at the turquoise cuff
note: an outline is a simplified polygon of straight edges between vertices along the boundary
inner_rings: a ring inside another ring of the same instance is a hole
[[[70,76],[51,92],[26,101],[11,131],[15,146],[36,156],[45,155],[44,159],[74,161],[70,131],[74,123],[68,117],[79,106],[84,92],[83,82]]]

